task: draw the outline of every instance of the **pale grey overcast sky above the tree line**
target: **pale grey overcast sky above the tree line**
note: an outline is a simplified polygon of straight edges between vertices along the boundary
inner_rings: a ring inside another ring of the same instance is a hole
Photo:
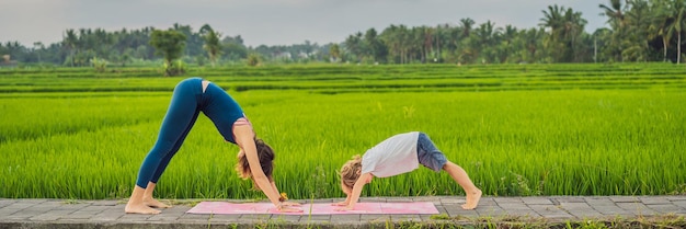
[[[599,4],[609,0],[0,0],[0,42],[27,47],[58,43],[66,30],[107,32],[174,23],[197,32],[210,25],[248,46],[341,43],[357,32],[389,25],[436,26],[472,19],[496,27],[536,27],[549,5],[582,13],[592,33],[605,27]]]

